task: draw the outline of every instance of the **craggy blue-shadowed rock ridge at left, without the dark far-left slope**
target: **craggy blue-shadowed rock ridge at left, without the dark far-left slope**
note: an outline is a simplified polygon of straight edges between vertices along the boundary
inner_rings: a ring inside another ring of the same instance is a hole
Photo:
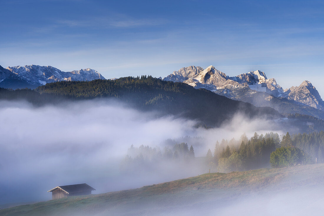
[[[64,72],[52,66],[26,65],[7,67],[12,73],[17,74],[30,84],[45,85],[57,81],[86,81],[94,79],[105,79],[96,70],[90,68]]]

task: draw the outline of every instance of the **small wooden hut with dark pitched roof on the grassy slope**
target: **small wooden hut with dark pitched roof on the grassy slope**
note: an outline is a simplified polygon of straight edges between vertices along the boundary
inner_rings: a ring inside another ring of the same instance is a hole
[[[47,191],[52,192],[52,199],[59,199],[70,196],[89,195],[95,188],[87,184],[57,186]]]

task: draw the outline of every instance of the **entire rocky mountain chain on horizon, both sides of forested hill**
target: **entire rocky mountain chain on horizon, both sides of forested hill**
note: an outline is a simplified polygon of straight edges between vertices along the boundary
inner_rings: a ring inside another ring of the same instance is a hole
[[[0,66],[0,87],[8,89],[35,89],[57,81],[95,79],[105,78],[90,68],[64,72],[52,66]],[[281,114],[298,113],[324,119],[324,102],[316,88],[307,80],[299,86],[283,89],[274,78],[268,79],[260,70],[229,77],[214,66],[206,69],[199,66],[183,67],[163,80],[183,82],[196,89],[211,90],[218,95],[259,107],[272,107]]]

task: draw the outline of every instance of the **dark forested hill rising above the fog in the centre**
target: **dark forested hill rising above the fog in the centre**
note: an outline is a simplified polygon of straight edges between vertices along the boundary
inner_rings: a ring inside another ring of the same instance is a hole
[[[209,90],[194,89],[179,82],[163,81],[151,76],[124,77],[116,80],[63,81],[48,83],[36,90],[71,99],[118,98],[142,110],[157,109],[167,114],[199,119],[217,126],[235,113],[247,117],[280,114],[272,108],[258,108],[249,103],[234,101]]]

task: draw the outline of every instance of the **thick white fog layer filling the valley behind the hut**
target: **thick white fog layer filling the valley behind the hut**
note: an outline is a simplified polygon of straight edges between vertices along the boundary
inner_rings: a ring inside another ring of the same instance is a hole
[[[168,163],[141,175],[121,173],[119,167],[132,144],[163,149],[168,138],[199,137],[194,148],[200,157],[214,149],[217,139],[238,139],[244,132],[251,137],[275,128],[273,122],[260,124],[240,115],[221,129],[156,116],[108,100],[37,108],[0,101],[0,204],[49,200],[47,191],[60,185],[87,183],[97,189],[93,193],[104,193],[202,174],[207,170],[181,170]]]

